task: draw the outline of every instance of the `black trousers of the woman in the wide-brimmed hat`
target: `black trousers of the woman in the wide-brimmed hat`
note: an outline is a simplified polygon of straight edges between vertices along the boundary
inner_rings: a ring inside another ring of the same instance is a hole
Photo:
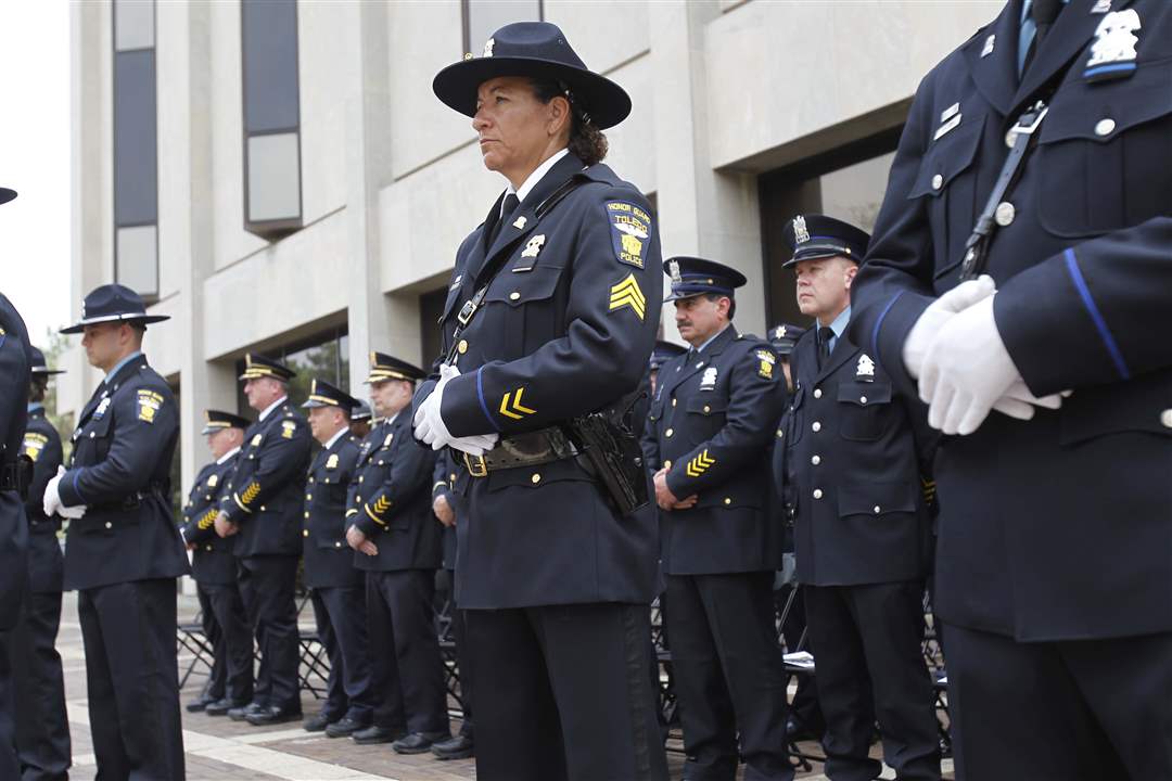
[[[647,605],[468,610],[481,781],[667,781]]]

